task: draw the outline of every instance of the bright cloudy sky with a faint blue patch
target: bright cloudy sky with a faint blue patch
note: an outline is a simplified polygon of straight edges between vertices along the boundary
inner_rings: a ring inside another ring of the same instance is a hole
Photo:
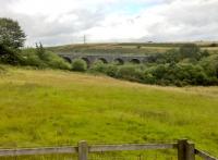
[[[218,40],[218,0],[0,0],[26,46]]]

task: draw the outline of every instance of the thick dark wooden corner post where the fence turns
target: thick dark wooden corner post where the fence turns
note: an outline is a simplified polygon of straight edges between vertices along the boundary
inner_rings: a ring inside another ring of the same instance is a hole
[[[195,160],[195,146],[187,139],[178,140],[178,160]]]

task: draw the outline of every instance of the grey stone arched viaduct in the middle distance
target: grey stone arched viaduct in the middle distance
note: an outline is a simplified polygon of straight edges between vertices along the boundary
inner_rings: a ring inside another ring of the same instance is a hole
[[[152,62],[156,58],[155,56],[126,56],[126,54],[84,54],[84,53],[76,53],[76,54],[59,54],[68,62],[72,62],[74,59],[82,59],[84,60],[87,65],[92,65],[96,61],[102,61],[104,63],[111,63],[117,62],[119,64],[124,63],[146,63]]]

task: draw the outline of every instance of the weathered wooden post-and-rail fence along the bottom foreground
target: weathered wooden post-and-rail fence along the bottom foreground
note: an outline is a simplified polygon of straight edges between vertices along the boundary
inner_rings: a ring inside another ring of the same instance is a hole
[[[158,150],[158,149],[177,149],[178,160],[195,160],[199,156],[205,160],[218,160],[208,153],[195,148],[193,143],[186,139],[178,140],[171,144],[125,144],[125,145],[88,145],[85,140],[72,147],[53,147],[53,148],[26,148],[26,149],[1,149],[0,157],[14,156],[36,156],[52,153],[77,153],[78,160],[88,160],[88,153],[106,151],[128,151],[128,150]]]

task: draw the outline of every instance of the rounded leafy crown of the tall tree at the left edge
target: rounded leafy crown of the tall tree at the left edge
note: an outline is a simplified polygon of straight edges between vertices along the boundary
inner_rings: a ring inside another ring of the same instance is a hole
[[[26,35],[16,21],[0,19],[0,44],[10,49],[19,49],[24,46]]]

